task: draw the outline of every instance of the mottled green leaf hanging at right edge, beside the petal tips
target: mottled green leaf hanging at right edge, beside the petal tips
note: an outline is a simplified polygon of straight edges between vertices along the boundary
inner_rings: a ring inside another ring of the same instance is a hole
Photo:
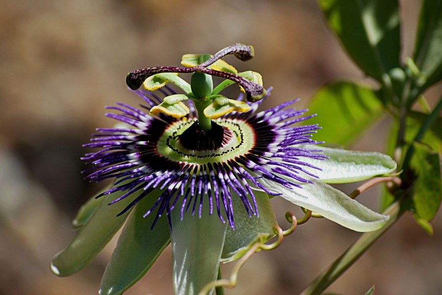
[[[411,166],[417,174],[413,185],[414,210],[420,218],[431,221],[442,201],[439,154],[422,144],[414,143]]]

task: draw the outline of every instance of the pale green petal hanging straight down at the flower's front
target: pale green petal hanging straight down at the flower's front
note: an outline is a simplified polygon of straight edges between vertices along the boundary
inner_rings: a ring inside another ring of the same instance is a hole
[[[189,210],[184,214],[183,220],[179,208],[171,212],[172,278],[175,294],[198,294],[206,284],[216,280],[218,275],[227,223],[222,223],[216,213],[208,215],[207,204],[203,207],[204,214],[201,218],[198,217],[197,210],[194,215]]]

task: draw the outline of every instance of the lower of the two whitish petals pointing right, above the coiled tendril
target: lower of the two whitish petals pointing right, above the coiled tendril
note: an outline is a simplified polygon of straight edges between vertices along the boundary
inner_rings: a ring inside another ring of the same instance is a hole
[[[319,180],[304,183],[302,188],[288,189],[274,181],[260,178],[268,189],[281,197],[357,232],[371,232],[382,228],[388,216],[379,214],[351,199],[346,194]]]

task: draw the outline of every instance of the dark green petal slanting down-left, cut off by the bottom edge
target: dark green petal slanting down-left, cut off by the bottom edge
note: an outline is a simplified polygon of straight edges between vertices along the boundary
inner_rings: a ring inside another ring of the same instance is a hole
[[[147,195],[130,214],[103,274],[99,294],[123,294],[149,270],[170,243],[166,216],[160,218],[152,230],[156,211],[143,217],[160,195],[159,190]]]

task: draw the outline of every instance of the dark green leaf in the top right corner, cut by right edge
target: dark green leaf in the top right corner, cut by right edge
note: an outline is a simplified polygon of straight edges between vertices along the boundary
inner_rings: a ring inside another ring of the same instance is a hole
[[[423,0],[417,26],[414,62],[426,77],[422,89],[442,79],[442,2]]]

